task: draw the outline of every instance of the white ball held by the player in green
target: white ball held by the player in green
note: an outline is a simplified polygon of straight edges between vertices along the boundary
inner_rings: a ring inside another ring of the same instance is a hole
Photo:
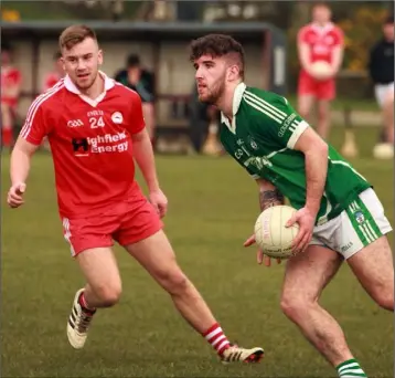
[[[274,206],[263,211],[255,222],[255,241],[263,253],[275,259],[293,255],[292,241],[298,234],[298,223],[286,227],[297,210],[289,206]]]

